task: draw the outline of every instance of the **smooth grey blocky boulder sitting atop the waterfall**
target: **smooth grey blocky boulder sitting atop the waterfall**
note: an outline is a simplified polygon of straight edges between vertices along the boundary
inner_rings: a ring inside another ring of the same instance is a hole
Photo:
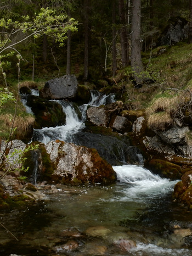
[[[39,91],[39,96],[46,99],[74,99],[77,94],[78,82],[75,75],[49,80]]]

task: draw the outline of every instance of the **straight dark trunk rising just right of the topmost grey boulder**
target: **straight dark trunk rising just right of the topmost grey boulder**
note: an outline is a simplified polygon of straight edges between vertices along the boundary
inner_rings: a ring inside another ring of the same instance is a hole
[[[84,0],[84,80],[88,79],[89,64],[89,0]]]

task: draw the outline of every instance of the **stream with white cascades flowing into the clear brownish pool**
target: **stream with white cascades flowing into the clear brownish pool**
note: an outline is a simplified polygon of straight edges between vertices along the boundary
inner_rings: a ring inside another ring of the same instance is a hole
[[[89,104],[114,101],[112,95],[98,97],[92,94]],[[74,142],[72,135],[85,126],[87,105],[80,107],[81,119],[72,104],[63,108],[66,125],[35,130],[33,140]],[[113,165],[118,182],[110,186],[57,185],[53,191],[35,180],[44,200],[22,212],[0,214],[18,239],[0,226],[0,255],[192,255],[192,215],[171,200],[178,181],[154,175],[138,157],[140,165],[123,159]]]

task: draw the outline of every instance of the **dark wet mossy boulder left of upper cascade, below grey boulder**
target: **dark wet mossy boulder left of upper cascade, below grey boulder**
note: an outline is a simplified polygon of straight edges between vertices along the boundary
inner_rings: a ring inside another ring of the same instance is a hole
[[[33,125],[35,129],[65,124],[66,115],[59,103],[29,95],[27,96],[27,105],[31,107],[35,115],[35,124]]]

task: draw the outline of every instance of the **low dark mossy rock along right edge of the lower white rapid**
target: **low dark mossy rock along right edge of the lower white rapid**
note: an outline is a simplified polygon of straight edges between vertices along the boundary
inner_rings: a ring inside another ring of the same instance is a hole
[[[177,164],[172,164],[166,160],[152,159],[145,161],[144,167],[153,171],[154,174],[158,174],[161,177],[177,180],[182,176],[181,168]]]

